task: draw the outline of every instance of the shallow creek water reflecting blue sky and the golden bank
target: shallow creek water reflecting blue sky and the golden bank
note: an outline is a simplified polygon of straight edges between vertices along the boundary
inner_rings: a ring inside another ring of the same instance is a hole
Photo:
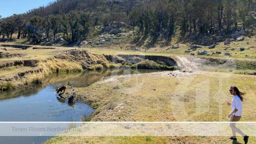
[[[89,116],[94,109],[82,102],[68,104],[56,93],[63,84],[85,87],[105,76],[150,73],[162,70],[117,69],[84,71],[72,74],[53,74],[44,84],[30,89],[20,89],[0,93],[1,122],[66,122],[80,121],[81,116]],[[0,137],[1,143],[43,143],[51,137]]]

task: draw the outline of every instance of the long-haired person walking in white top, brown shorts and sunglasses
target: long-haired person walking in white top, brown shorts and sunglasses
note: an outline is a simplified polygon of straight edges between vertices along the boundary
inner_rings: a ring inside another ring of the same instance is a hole
[[[230,122],[237,122],[240,120],[242,116],[242,109],[243,109],[243,94],[239,92],[236,86],[231,86],[229,90],[230,94],[233,95],[232,103],[228,102],[228,105],[232,106],[232,112],[228,115]],[[236,123],[230,123],[230,127],[232,129],[233,136],[229,139],[237,140],[236,139],[236,132],[244,136],[244,143],[247,144],[249,136],[245,135],[241,130],[236,127]]]

